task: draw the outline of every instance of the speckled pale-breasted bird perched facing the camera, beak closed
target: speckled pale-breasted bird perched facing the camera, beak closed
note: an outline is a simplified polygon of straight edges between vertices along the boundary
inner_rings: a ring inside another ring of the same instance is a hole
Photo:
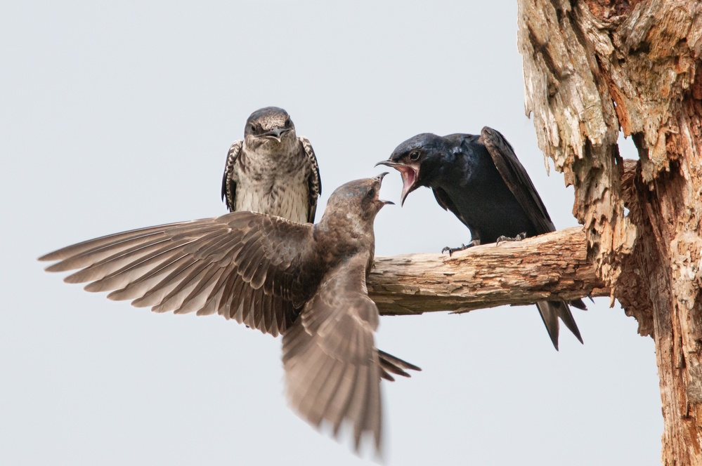
[[[227,153],[222,200],[229,211],[311,223],[321,193],[312,145],[295,134],[290,115],[278,107],[253,112],[246,121],[244,139],[234,141]]]

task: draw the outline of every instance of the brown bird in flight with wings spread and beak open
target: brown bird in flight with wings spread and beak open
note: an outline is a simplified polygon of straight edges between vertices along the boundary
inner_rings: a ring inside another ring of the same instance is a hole
[[[366,278],[386,173],[347,182],[316,225],[238,211],[91,239],[48,253],[48,272],[154,312],[220,314],[282,334],[287,398],[311,425],[353,426],[381,451],[380,380],[420,368],[375,347]],[[56,262],[58,261],[58,262]]]

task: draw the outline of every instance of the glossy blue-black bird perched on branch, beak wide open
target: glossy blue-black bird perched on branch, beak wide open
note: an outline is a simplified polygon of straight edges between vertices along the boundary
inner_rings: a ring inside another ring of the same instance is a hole
[[[555,231],[531,178],[512,145],[493,128],[480,135],[422,133],[405,140],[390,158],[378,162],[396,168],[403,180],[401,205],[420,186],[431,188],[436,202],[470,230],[468,246],[519,241]],[[586,309],[582,300],[570,302]],[[558,349],[559,321],[583,342],[571,310],[563,301],[536,303],[551,342]]]

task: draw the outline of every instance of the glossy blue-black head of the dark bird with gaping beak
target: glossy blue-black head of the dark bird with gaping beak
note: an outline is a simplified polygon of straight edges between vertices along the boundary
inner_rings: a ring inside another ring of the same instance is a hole
[[[428,186],[436,154],[441,154],[443,139],[431,133],[418,134],[395,148],[390,158],[375,164],[395,168],[402,175],[400,205],[410,192]]]

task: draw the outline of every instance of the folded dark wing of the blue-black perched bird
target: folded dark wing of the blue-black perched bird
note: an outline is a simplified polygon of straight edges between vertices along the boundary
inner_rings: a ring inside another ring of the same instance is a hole
[[[519,159],[516,158],[512,145],[509,145],[509,142],[499,131],[487,126],[481,131],[478,142],[481,142],[488,149],[502,179],[505,180],[505,184],[512,191],[539,234],[553,232],[556,227],[531,182],[531,178]]]

